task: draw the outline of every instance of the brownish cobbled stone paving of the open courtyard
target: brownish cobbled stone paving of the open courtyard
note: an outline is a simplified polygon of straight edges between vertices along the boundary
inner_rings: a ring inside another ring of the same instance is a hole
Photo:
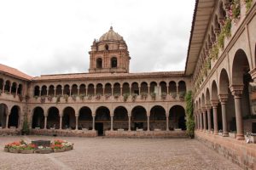
[[[25,139],[67,139],[74,150],[48,155],[12,154],[4,144]],[[195,139],[104,139],[46,136],[0,137],[0,169],[241,169]]]

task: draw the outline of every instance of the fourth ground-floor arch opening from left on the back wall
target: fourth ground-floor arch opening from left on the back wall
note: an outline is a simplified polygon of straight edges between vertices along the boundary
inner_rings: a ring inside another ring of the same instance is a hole
[[[92,111],[88,106],[83,106],[79,110],[79,129],[92,129]]]

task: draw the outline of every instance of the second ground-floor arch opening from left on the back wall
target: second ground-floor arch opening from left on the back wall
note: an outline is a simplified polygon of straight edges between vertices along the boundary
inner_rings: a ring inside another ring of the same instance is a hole
[[[55,106],[48,109],[47,128],[60,128],[60,111]]]

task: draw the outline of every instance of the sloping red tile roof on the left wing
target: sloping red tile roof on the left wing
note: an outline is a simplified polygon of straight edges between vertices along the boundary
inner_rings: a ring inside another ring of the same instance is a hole
[[[11,76],[15,76],[15,77],[18,77],[21,79],[32,80],[32,77],[26,75],[25,73],[15,69],[15,68],[9,67],[7,65],[0,64],[0,72],[7,73]]]

